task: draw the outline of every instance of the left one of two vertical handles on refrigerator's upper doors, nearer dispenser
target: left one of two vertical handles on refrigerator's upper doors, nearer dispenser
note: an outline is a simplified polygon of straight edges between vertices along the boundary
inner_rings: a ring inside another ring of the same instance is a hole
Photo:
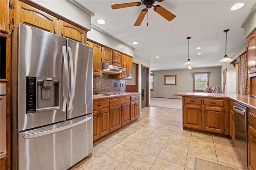
[[[66,111],[67,99],[68,99],[68,57],[67,57],[67,49],[66,46],[62,47],[63,52],[63,60],[64,60],[64,81],[62,80],[63,87],[63,107],[62,111]]]

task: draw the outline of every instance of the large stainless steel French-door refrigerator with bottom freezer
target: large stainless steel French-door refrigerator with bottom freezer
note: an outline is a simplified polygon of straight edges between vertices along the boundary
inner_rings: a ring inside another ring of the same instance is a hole
[[[64,170],[93,147],[92,48],[24,24],[12,34],[12,169]]]

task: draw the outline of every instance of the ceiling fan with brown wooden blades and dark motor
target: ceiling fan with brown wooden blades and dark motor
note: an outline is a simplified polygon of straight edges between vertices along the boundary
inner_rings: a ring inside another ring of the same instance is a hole
[[[164,0],[141,0],[141,2],[130,2],[130,3],[124,3],[124,4],[115,4],[112,5],[111,8],[113,10],[120,9],[120,8],[127,8],[127,7],[132,7],[132,6],[140,6],[140,5],[145,5],[146,8],[143,9],[140,12],[140,15],[138,16],[134,26],[140,26],[142,23],[146,13],[148,12],[148,8],[151,8],[152,6],[154,7],[154,11],[156,11],[158,14],[160,14],[162,17],[164,17],[166,20],[171,21],[173,20],[176,16],[163,8],[160,5],[154,6],[154,2],[162,2]]]

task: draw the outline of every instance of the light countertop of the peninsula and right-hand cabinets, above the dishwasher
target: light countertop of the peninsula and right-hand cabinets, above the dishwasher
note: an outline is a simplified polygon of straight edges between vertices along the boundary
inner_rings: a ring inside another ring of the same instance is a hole
[[[176,92],[174,96],[184,97],[204,97],[204,98],[222,98],[232,99],[246,107],[256,109],[256,99],[249,97],[249,95],[236,95],[236,94],[222,94],[222,93],[190,93],[190,92]]]

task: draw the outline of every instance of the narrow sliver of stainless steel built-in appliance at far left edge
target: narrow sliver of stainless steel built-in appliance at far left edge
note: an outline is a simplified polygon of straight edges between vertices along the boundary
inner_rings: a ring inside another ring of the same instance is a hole
[[[0,159],[6,157],[6,83],[0,84]]]

